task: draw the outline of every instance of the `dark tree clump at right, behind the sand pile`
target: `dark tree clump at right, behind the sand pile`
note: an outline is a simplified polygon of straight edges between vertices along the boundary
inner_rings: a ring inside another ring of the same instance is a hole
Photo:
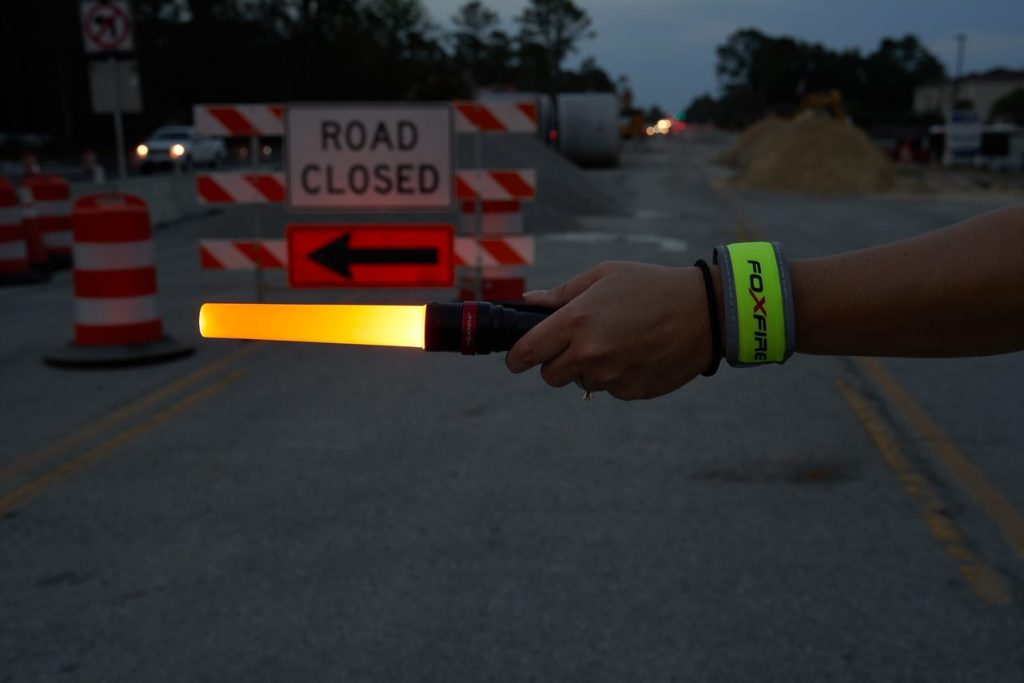
[[[883,38],[864,54],[755,29],[736,31],[718,47],[716,73],[721,95],[694,98],[687,121],[738,128],[769,113],[791,114],[808,94],[839,90],[847,114],[861,126],[938,122],[938,112],[913,113],[913,90],[946,78],[942,63],[912,35]]]

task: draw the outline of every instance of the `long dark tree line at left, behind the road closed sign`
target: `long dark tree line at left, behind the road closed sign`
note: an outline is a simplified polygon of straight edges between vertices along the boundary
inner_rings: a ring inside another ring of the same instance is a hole
[[[71,148],[108,141],[91,113],[79,0],[4,3],[0,133],[51,135]],[[614,90],[593,59],[566,57],[594,36],[573,0],[528,0],[507,23],[471,0],[443,29],[421,0],[134,0],[143,112],[130,136],[187,121],[197,102],[450,100],[482,88]]]

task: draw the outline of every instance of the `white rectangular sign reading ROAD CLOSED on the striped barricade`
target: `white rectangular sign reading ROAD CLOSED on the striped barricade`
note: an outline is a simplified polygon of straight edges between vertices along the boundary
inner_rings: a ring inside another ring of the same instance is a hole
[[[296,209],[449,209],[447,106],[292,105],[285,124]]]

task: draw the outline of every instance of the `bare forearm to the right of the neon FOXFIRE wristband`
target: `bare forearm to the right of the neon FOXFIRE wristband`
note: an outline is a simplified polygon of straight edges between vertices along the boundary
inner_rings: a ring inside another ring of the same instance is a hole
[[[802,353],[957,356],[1024,346],[1024,207],[794,261]]]

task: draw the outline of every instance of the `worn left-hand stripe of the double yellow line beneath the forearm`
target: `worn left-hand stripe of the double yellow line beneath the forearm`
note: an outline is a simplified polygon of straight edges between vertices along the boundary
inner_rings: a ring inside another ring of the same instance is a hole
[[[878,411],[859,392],[843,380],[836,386],[850,404],[850,410],[860,421],[867,435],[874,441],[886,464],[896,475],[907,495],[921,505],[921,513],[932,536],[959,568],[961,574],[975,595],[984,602],[1009,605],[1012,602],[1009,585],[995,569],[982,562],[967,546],[964,535],[949,519],[949,507],[928,479],[914,470],[910,460],[899,446],[892,430]]]

